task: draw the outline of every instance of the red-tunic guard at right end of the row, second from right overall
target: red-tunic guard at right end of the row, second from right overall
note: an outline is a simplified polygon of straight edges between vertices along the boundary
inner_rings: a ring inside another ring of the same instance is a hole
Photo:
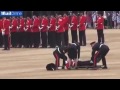
[[[79,17],[79,41],[82,46],[86,46],[86,25],[86,16],[81,13],[81,16]]]

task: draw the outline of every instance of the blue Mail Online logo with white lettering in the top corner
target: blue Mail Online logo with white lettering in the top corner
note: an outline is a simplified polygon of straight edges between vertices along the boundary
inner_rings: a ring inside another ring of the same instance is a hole
[[[23,16],[23,11],[0,11],[0,16]]]

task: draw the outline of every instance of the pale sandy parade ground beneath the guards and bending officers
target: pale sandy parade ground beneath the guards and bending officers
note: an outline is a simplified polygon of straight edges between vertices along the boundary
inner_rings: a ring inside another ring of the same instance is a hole
[[[1,79],[120,79],[120,30],[105,30],[105,43],[109,45],[107,70],[58,70],[46,71],[46,64],[54,62],[54,49],[11,48],[0,49]],[[69,36],[71,33],[69,32]],[[97,40],[96,30],[87,30],[87,46],[81,47],[81,60],[89,60],[89,43]],[[71,38],[69,38],[71,42]],[[101,62],[100,62],[101,64]]]

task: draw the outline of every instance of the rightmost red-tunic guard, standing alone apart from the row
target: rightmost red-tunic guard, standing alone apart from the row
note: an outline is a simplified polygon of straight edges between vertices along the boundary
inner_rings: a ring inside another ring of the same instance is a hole
[[[98,42],[104,43],[104,33],[103,33],[104,18],[102,17],[101,13],[98,13],[96,28],[97,28]]]

